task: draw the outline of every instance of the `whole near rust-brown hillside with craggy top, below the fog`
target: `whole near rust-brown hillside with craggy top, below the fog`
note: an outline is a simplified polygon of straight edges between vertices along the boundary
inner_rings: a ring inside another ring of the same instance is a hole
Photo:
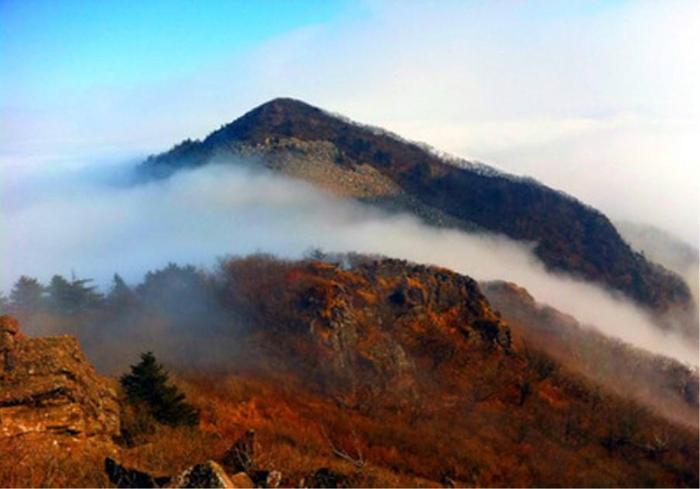
[[[251,477],[278,470],[287,486],[698,483],[697,428],[525,347],[474,280],[443,268],[256,255],[215,273],[169,265],[91,304],[25,312],[25,329],[73,324],[117,373],[137,357],[129,347],[167,362],[201,423],[148,430],[122,408],[128,438],[143,442],[109,456],[148,474],[223,464],[254,429]],[[52,462],[13,450],[34,460],[32,480],[58,466],[54,483],[76,484],[66,468],[80,454]],[[103,484],[90,467],[80,484]],[[0,470],[3,480],[23,479]]]

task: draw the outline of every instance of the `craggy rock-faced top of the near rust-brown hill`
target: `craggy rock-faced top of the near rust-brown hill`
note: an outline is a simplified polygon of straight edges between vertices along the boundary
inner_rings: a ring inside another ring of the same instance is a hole
[[[449,270],[383,259],[280,265],[253,273],[267,275],[260,282],[243,278],[257,266],[229,269],[234,307],[256,324],[251,338],[302,369],[309,385],[348,400],[411,399],[436,369],[453,368],[456,352],[501,358],[511,348],[476,282]]]

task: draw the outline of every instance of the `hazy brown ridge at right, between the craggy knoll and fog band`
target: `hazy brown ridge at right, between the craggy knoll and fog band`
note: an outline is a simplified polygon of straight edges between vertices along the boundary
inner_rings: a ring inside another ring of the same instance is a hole
[[[523,347],[545,352],[568,369],[670,419],[698,426],[697,368],[605,336],[536,302],[516,284],[487,282],[480,287]]]

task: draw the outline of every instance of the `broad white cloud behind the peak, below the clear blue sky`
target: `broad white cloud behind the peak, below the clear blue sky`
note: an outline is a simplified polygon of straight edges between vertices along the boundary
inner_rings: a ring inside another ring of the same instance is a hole
[[[697,244],[698,2],[367,8],[178,79],[15,107],[0,162],[162,150],[291,95]]]

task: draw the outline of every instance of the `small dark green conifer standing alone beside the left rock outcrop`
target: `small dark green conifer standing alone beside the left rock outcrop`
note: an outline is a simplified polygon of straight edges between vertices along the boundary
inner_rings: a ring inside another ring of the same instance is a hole
[[[123,375],[120,382],[129,402],[145,405],[156,421],[169,426],[199,423],[199,412],[170,384],[167,371],[152,352],[141,354],[141,361],[132,365],[131,373]]]

